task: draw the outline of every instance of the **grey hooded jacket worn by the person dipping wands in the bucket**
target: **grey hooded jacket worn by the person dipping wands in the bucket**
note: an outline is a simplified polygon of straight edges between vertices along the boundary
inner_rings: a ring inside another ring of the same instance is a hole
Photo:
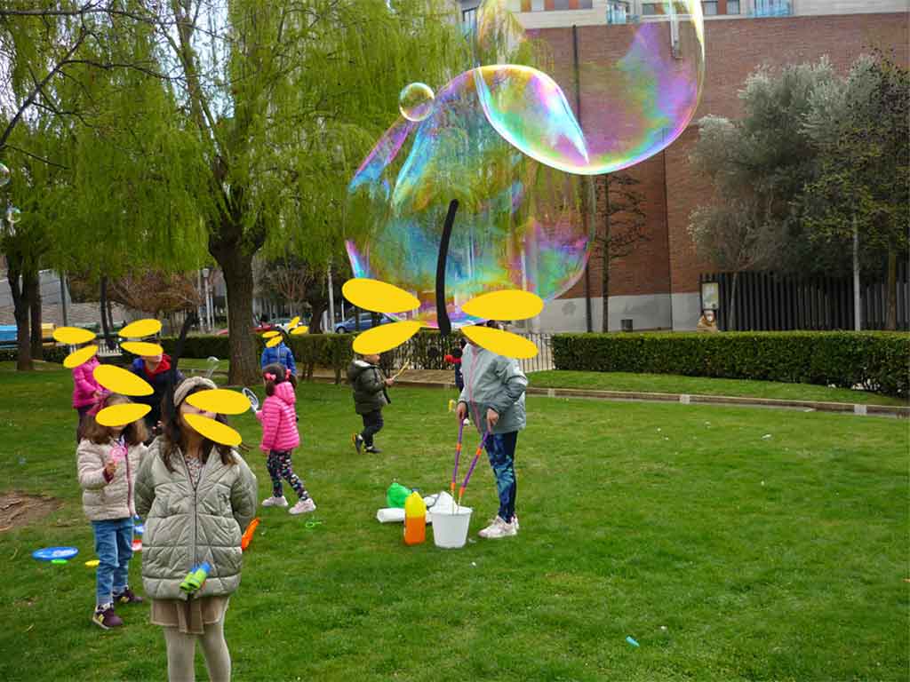
[[[468,344],[461,355],[461,374],[464,388],[459,402],[468,406],[468,416],[481,434],[487,429],[488,407],[500,416],[492,433],[507,434],[524,428],[524,389],[528,377],[521,371],[518,360]]]

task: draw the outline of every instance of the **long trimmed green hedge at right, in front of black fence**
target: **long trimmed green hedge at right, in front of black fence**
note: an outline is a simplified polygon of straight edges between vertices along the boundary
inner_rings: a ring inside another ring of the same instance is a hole
[[[910,335],[888,332],[560,334],[557,369],[760,379],[907,396]]]

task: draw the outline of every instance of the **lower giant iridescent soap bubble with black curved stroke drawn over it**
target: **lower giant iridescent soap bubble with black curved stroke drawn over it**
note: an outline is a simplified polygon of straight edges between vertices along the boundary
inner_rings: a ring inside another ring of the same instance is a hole
[[[436,271],[452,200],[459,202],[445,260],[446,312],[457,328],[475,296],[525,289],[559,296],[584,270],[594,209],[591,178],[543,165],[491,126],[477,83],[495,92],[521,67],[487,66],[441,88],[420,122],[399,118],[349,186],[348,253],[355,277],[410,291],[409,317],[437,326]]]

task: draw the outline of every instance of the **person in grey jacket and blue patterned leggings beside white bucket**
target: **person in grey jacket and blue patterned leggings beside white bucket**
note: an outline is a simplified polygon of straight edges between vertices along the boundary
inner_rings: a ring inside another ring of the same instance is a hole
[[[470,416],[481,435],[496,478],[500,508],[490,526],[480,537],[509,537],[518,533],[515,515],[515,446],[518,432],[525,427],[524,376],[518,360],[498,356],[486,348],[468,342],[461,355],[464,388],[456,413],[459,419]]]

